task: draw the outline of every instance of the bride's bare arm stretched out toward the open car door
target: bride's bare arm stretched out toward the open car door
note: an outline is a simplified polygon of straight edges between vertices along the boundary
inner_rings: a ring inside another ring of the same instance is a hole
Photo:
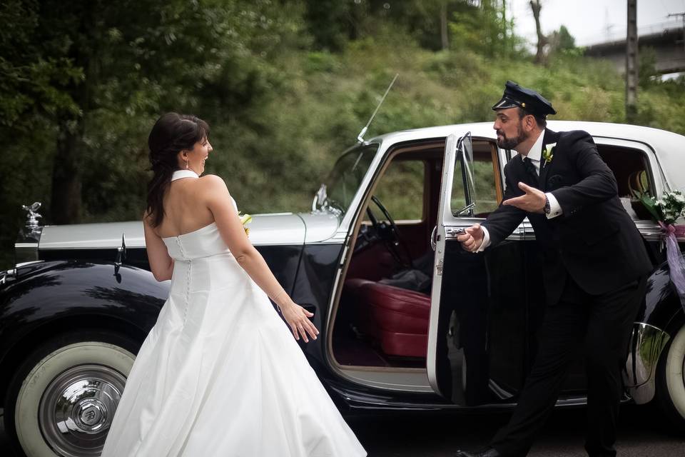
[[[319,331],[308,319],[313,313],[296,304],[271,273],[262,255],[252,246],[240,223],[238,212],[228,194],[225,182],[219,176],[203,176],[203,195],[207,206],[214,216],[221,238],[233,253],[235,260],[250,275],[250,278],[278,305],[283,318],[288,322],[295,339],[309,341],[307,333],[314,339]]]

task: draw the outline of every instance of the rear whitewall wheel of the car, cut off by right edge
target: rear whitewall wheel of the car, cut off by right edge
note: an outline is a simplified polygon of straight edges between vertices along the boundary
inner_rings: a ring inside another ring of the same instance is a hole
[[[656,379],[659,406],[676,430],[685,431],[685,325],[666,343]]]

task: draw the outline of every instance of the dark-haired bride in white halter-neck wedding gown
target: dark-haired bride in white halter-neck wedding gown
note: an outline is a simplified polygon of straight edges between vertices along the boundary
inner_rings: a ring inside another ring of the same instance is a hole
[[[199,177],[208,133],[201,119],[168,113],[148,139],[145,241],[171,289],[101,455],[366,456],[295,343],[317,338],[313,314],[250,244],[224,181]]]

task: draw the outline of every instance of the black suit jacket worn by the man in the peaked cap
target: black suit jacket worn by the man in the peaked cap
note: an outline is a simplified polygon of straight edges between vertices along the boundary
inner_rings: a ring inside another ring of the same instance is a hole
[[[520,156],[504,166],[504,199],[523,195],[519,181],[551,192],[562,214],[547,219],[514,206],[500,205],[483,222],[497,245],[528,216],[542,248],[547,303],[557,303],[569,274],[587,293],[617,289],[651,271],[644,242],[619,201],[616,178],[585,131],[544,131],[545,145],[556,143],[552,161],[539,180]],[[541,164],[542,165],[542,164]]]

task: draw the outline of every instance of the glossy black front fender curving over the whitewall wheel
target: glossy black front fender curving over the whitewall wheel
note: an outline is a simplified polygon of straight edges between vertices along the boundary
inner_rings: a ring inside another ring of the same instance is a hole
[[[168,297],[150,271],[96,261],[41,261],[0,291],[0,391],[16,363],[56,334],[109,329],[143,342]]]

